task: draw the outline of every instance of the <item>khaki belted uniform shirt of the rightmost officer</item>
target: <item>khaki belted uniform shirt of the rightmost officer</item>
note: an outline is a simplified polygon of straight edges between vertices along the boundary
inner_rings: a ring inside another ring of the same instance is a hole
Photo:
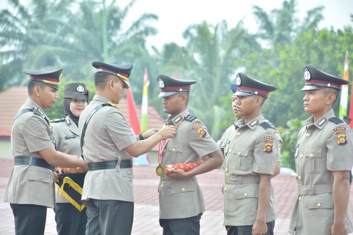
[[[294,157],[299,186],[288,230],[291,234],[294,231],[300,235],[331,234],[334,219],[331,171],[349,171],[353,164],[352,130],[343,121],[339,124],[330,121],[331,117],[335,117],[332,109],[315,123],[313,116],[309,117],[298,134]],[[345,224],[348,233],[352,233],[349,209]]]

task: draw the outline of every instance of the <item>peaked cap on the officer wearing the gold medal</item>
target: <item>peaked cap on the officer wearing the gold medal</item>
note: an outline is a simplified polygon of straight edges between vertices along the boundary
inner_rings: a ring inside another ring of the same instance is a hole
[[[157,81],[159,88],[161,88],[161,93],[158,97],[166,97],[178,92],[189,92],[190,85],[196,83],[196,80],[174,79],[166,75],[159,75]]]

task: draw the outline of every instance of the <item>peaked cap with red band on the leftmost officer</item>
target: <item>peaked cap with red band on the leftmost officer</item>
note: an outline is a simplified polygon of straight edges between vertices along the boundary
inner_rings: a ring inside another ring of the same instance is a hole
[[[23,73],[29,74],[29,80],[44,82],[57,90],[59,88],[59,81],[62,76],[62,69],[55,70],[22,70]]]

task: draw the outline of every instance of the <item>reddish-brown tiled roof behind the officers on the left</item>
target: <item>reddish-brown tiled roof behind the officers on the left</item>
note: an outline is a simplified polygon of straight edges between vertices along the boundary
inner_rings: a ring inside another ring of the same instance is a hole
[[[20,107],[26,102],[28,91],[26,86],[13,86],[5,91],[0,92],[0,137],[9,137],[11,135],[11,127],[13,118]],[[130,124],[130,116],[128,112],[126,98],[121,98],[118,107],[124,114],[128,124]],[[141,105],[136,105],[137,117],[141,117]],[[153,106],[148,106],[147,130],[152,128],[161,128],[164,119],[158,114]],[[158,144],[153,150],[158,150]]]

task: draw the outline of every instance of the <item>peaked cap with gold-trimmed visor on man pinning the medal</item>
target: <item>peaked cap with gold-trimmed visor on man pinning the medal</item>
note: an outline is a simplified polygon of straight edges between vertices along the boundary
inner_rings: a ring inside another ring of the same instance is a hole
[[[97,69],[97,72],[103,72],[118,76],[123,82],[125,82],[124,88],[130,88],[128,84],[128,77],[131,74],[132,63],[128,64],[106,64],[103,62],[92,62],[92,66]]]

